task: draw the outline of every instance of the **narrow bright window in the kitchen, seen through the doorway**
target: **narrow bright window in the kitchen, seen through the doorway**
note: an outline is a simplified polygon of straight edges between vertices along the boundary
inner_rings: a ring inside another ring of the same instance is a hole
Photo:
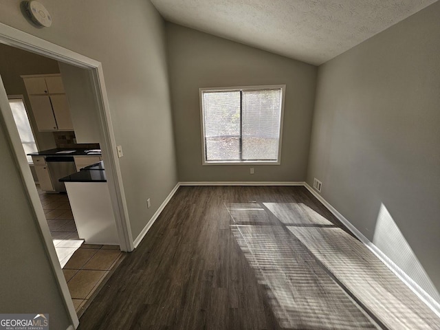
[[[26,112],[25,104],[21,96],[10,97],[9,105],[12,110],[12,115],[14,116],[15,124],[19,131],[21,144],[23,144],[23,149],[28,159],[28,163],[32,164],[32,156],[28,156],[28,153],[35,153],[38,151],[36,148],[34,134],[30,127],[30,122],[28,118],[28,113]]]

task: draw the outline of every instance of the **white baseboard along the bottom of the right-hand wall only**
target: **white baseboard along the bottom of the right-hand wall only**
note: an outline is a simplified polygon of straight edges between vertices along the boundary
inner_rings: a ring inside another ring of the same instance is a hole
[[[358,228],[355,228],[355,226],[342,214],[340,214],[340,212],[338,212],[336,208],[333,208],[333,206],[331,206],[328,201],[326,201],[320,194],[318,194],[318,192],[314,190],[314,188],[311,188],[311,186],[309,186],[307,182],[304,183],[304,186],[305,188],[307,188],[307,190],[309,190],[309,192],[311,192],[312,195],[314,195],[322,204],[324,204],[324,206],[328,208],[329,211],[333,213],[333,215],[338,218],[338,220],[341,221],[362,243],[364,243],[364,245],[366,245],[366,247],[369,248],[369,250],[373,252],[373,254],[375,254],[375,256],[377,256],[377,258],[380,259],[380,261],[382,261],[382,263],[384,263],[386,267],[391,270],[391,272],[393,272],[407,287],[409,287],[412,292],[414,292],[415,295],[423,301],[423,303],[425,303],[432,311],[434,311],[435,314],[437,314],[437,316],[440,317],[440,304],[437,302],[437,300],[434,300],[434,298],[432,298],[423,288],[415,283],[415,281],[412,280],[410,276],[408,276],[403,270],[401,270],[401,268],[397,266],[391,259],[389,259],[388,256],[384,254],[384,252],[379,250],[376,245],[374,245],[369,239],[367,239],[366,236],[364,236],[364,234],[362,234],[362,232],[358,230]]]

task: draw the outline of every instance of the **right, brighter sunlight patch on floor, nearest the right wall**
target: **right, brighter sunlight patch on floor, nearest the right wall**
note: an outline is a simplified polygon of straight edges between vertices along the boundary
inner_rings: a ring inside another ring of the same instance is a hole
[[[439,329],[439,318],[347,232],[287,228],[388,329]]]

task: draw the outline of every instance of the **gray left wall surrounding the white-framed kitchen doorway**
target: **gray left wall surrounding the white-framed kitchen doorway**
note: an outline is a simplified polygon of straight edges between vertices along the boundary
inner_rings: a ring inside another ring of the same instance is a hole
[[[3,1],[1,23],[102,63],[115,140],[124,149],[120,166],[131,229],[133,237],[136,237],[177,183],[164,21],[153,5],[144,0],[46,0],[44,5],[52,14],[54,23],[51,28],[34,28],[21,14],[20,2]],[[6,177],[17,175],[12,165],[3,168],[6,161],[10,161],[10,155],[2,157],[0,173]],[[18,179],[5,182],[1,184],[1,196],[10,194],[12,187],[23,189]],[[151,208],[147,210],[148,197],[151,198]],[[16,209],[27,212],[28,217],[16,217]],[[35,246],[23,243],[23,248],[11,249],[5,241],[1,241],[1,253],[8,252],[8,260],[15,263],[28,260],[31,255],[36,260],[45,259],[38,233],[32,228],[34,219],[30,206],[23,199],[11,198],[8,203],[2,201],[1,212],[1,221],[7,219],[3,217],[3,212],[10,214],[11,230],[2,229],[1,234],[7,233],[8,239],[14,240],[12,246],[22,244],[23,237],[28,236],[34,237],[35,242]],[[17,224],[14,222],[16,218],[20,218]],[[1,301],[8,303],[8,310],[21,311],[24,307],[28,311],[36,310],[48,304],[44,303],[45,300],[62,305],[56,294],[55,297],[47,295],[45,287],[39,286],[51,276],[47,263],[40,265],[42,269],[37,273],[28,272],[28,267],[26,270],[22,267],[13,269],[10,276],[14,280],[5,278],[2,267]],[[47,276],[40,272],[47,273]],[[9,284],[5,289],[3,281]],[[21,287],[28,287],[28,283],[34,284],[32,294],[13,295],[13,292],[21,292]],[[7,300],[3,300],[5,296]],[[51,320],[58,320],[60,324],[65,319],[62,312],[51,316]]]

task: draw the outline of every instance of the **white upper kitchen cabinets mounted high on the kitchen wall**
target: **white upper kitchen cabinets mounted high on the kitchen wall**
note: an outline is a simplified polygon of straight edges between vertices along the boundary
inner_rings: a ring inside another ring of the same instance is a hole
[[[39,131],[74,131],[61,75],[21,77]]]

